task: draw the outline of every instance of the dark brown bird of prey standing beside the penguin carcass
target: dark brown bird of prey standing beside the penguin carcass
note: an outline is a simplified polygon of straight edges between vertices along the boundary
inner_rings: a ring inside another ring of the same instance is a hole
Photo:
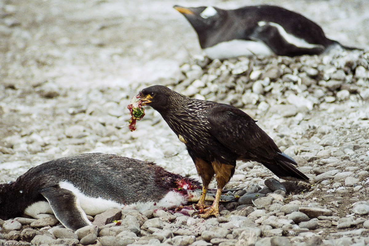
[[[231,105],[184,96],[165,86],[150,86],[136,96],[141,105],[158,111],[178,139],[186,145],[203,181],[196,208],[198,216],[219,216],[219,198],[234,174],[236,160],[256,161],[281,179],[309,178],[294,167],[296,162],[282,153],[275,142],[248,114]],[[213,204],[204,204],[208,185],[215,174],[217,193]]]

